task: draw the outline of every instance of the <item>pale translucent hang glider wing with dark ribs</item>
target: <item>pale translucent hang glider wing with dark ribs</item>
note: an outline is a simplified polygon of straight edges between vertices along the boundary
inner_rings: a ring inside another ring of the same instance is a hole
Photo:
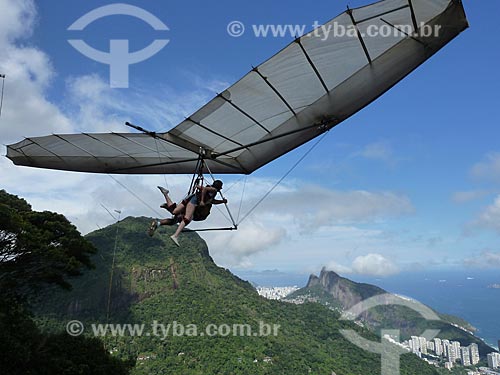
[[[26,138],[7,157],[37,168],[184,174],[201,155],[213,173],[250,174],[370,104],[468,23],[460,0],[383,0],[322,26],[334,27],[354,33],[297,38],[168,132]]]

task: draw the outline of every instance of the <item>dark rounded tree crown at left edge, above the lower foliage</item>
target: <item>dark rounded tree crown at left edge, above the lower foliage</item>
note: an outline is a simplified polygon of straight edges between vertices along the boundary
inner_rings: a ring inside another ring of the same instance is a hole
[[[69,289],[69,276],[90,268],[93,245],[63,215],[33,211],[0,190],[0,287],[25,295],[44,283]]]

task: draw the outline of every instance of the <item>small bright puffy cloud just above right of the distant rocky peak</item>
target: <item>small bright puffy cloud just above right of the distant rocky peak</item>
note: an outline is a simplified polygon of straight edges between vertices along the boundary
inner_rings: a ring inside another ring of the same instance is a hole
[[[365,276],[390,276],[400,271],[394,262],[376,253],[357,256],[349,266],[332,261],[326,265],[326,269],[340,274]]]

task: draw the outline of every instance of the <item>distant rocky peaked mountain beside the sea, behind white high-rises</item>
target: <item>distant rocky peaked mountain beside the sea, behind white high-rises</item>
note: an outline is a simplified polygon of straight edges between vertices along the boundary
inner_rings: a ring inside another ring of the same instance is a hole
[[[384,301],[381,296],[387,295],[390,298],[404,300],[404,298],[390,295],[375,285],[356,283],[333,271],[322,269],[319,276],[311,275],[304,288],[290,294],[285,300],[296,303],[317,302],[342,313],[370,297],[379,296],[381,301]],[[408,299],[406,300],[408,301]],[[420,313],[408,307],[390,303],[364,311],[359,314],[356,321],[378,335],[382,329],[397,329],[400,331],[401,340],[407,340],[412,335],[420,336],[425,329],[439,329],[438,337],[441,339],[459,341],[462,346],[468,346],[471,343],[478,344],[480,355],[483,358],[494,351],[493,348],[474,336],[474,327],[463,319],[433,312],[439,317],[439,321],[426,320]]]

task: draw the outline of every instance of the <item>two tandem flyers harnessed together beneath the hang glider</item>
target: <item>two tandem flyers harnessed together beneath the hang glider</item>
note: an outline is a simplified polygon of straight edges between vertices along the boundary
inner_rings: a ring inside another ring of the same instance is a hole
[[[192,220],[205,220],[208,215],[210,215],[210,209],[213,204],[227,203],[227,199],[215,199],[217,193],[222,189],[222,185],[221,180],[215,180],[212,185],[198,186],[196,193],[188,195],[179,204],[174,203],[172,199],[170,199],[167,189],[158,186],[158,189],[160,189],[166,200],[166,203],[162,204],[160,207],[170,212],[172,217],[162,220],[153,220],[149,227],[148,234],[153,236],[155,230],[161,225],[174,225],[179,223],[177,230],[170,238],[177,246],[180,246],[178,237],[186,225]]]

